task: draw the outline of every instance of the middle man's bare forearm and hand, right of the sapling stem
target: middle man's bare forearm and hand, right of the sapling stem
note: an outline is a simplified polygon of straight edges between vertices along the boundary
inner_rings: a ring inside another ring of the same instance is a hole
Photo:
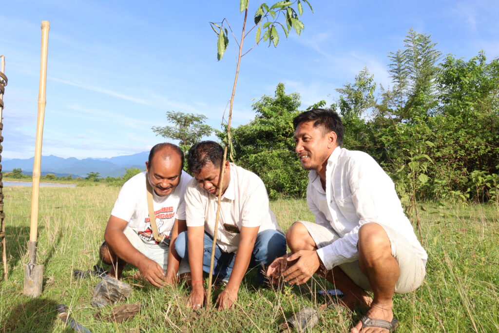
[[[217,304],[220,310],[225,310],[233,307],[238,300],[238,291],[241,281],[248,270],[250,265],[251,254],[254,248],[254,242],[258,235],[260,227],[242,227],[241,236],[238,245],[238,252],[234,261],[234,268],[232,270],[229,283],[224,291],[219,295]]]

